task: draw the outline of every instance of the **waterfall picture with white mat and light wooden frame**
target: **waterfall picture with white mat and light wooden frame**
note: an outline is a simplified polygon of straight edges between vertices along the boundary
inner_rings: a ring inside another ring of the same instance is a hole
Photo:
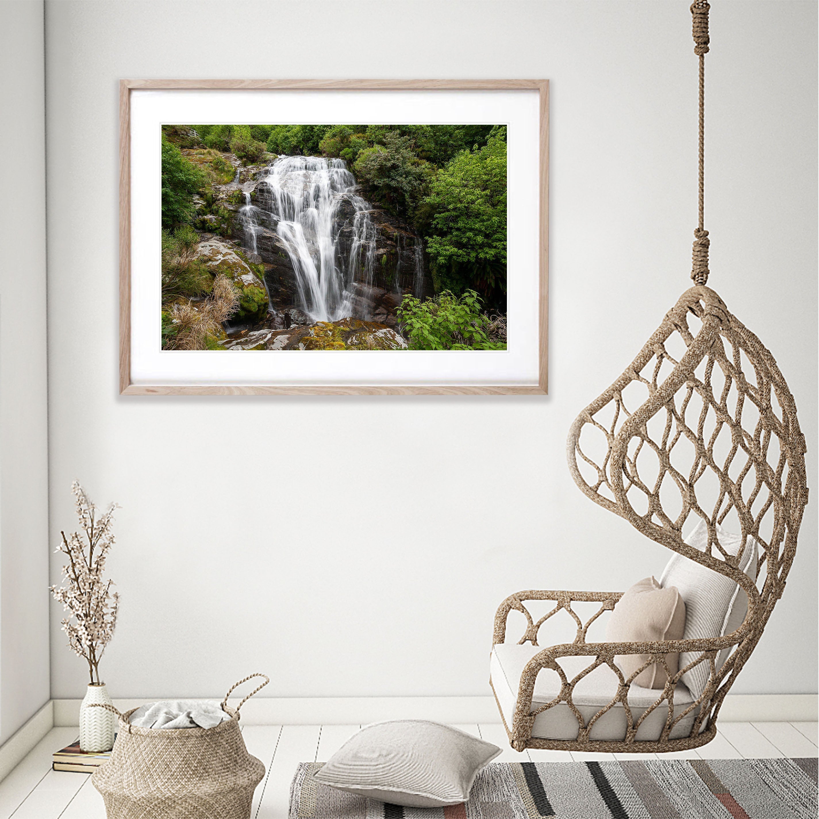
[[[120,81],[120,392],[547,390],[545,79]]]

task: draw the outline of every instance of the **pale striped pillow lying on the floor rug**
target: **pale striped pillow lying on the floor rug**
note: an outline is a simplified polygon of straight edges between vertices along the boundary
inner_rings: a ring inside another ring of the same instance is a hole
[[[314,773],[323,785],[407,808],[469,799],[475,777],[500,748],[437,722],[378,722],[347,740]]]

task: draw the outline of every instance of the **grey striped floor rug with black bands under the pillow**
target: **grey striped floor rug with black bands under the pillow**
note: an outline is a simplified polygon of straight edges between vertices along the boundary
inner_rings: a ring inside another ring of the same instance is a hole
[[[468,803],[400,808],[334,790],[302,762],[290,819],[817,819],[817,760],[500,762]]]

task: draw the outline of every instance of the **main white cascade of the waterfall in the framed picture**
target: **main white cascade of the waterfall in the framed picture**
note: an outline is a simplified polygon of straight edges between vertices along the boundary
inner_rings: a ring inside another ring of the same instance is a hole
[[[353,284],[373,285],[376,229],[345,161],[280,156],[259,184],[268,188],[269,215],[296,273],[302,309],[313,321],[350,316]],[[343,203],[352,220],[337,218]],[[342,252],[342,231],[349,253]]]

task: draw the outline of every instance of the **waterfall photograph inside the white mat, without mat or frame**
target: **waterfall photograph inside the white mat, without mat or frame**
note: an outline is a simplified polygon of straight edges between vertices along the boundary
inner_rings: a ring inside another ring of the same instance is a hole
[[[165,124],[164,351],[506,349],[506,126]]]

